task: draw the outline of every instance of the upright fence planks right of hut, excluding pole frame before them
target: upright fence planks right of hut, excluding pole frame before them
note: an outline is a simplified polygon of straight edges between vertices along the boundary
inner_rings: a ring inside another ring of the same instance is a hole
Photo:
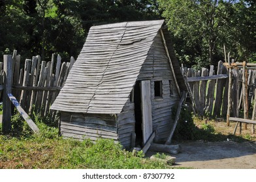
[[[217,72],[214,66],[210,70],[202,68],[195,71],[192,68],[183,68],[189,86],[193,92],[196,104],[199,105],[199,116],[226,117],[228,106],[229,70],[219,61]],[[242,97],[242,68],[232,69],[232,110],[231,116],[238,117],[239,110],[244,108]],[[253,110],[255,94],[256,70],[247,70],[248,75],[248,108]],[[217,75],[215,75],[217,73]],[[205,81],[206,80],[206,81]]]

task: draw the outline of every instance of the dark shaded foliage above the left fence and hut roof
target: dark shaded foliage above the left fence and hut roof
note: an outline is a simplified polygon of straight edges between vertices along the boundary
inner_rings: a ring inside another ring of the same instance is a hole
[[[18,49],[26,58],[77,57],[89,27],[157,19],[153,5],[147,0],[0,0],[0,55]]]

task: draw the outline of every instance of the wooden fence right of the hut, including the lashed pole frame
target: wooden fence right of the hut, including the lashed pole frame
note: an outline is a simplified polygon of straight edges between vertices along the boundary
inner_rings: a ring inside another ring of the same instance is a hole
[[[193,105],[197,108],[196,114],[222,118],[227,116],[227,125],[229,120],[239,122],[240,132],[241,123],[246,123],[246,129],[247,123],[251,123],[251,133],[255,133],[256,64],[219,61],[217,72],[214,66],[210,66],[210,70],[202,68],[198,72],[187,68],[182,70],[191,90]],[[239,118],[240,110],[244,111],[243,118]],[[249,115],[251,120],[248,120]]]

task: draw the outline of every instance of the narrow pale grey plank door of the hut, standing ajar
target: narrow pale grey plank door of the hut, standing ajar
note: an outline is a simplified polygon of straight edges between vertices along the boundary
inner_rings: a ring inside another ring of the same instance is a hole
[[[141,81],[141,110],[142,110],[142,134],[143,145],[152,134],[152,106],[150,80]]]

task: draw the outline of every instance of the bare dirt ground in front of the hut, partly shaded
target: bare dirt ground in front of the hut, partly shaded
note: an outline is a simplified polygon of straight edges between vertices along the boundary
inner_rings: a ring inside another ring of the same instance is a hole
[[[256,168],[255,142],[186,142],[176,155],[177,167],[199,169]]]

